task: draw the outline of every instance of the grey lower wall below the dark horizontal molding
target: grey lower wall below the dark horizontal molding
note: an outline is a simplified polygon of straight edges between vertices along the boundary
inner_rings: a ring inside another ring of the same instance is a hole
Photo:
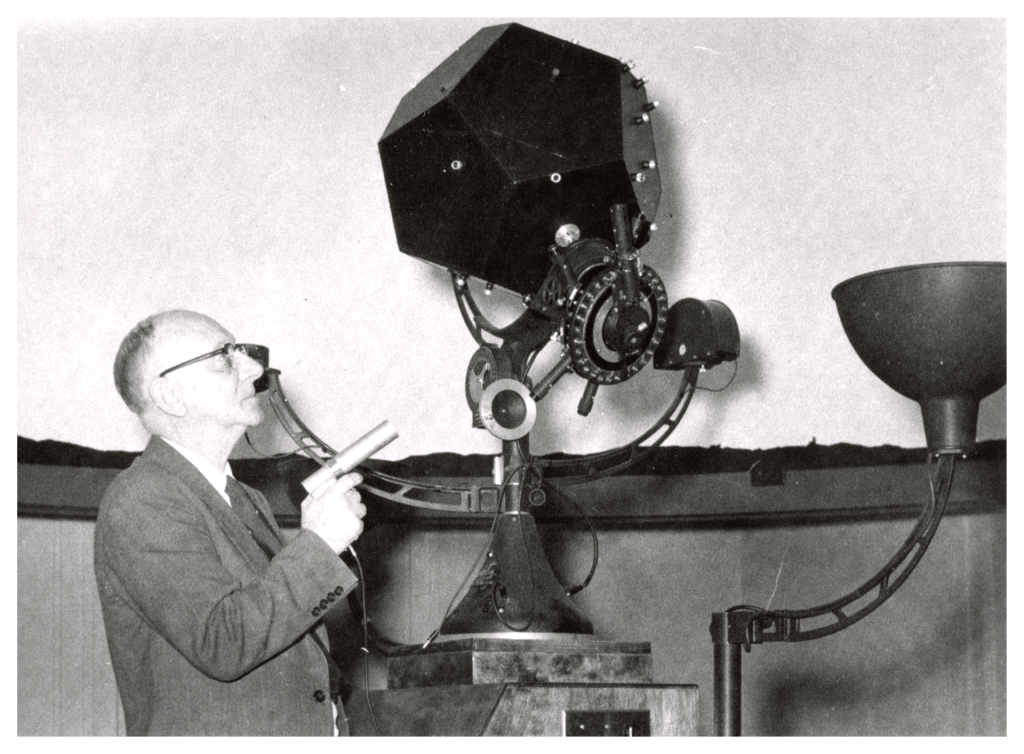
[[[597,574],[577,599],[599,638],[651,642],[655,682],[698,684],[699,729],[711,735],[711,614],[769,598],[775,608],[805,608],[840,596],[872,575],[910,526],[606,530]],[[123,734],[92,579],[92,529],[18,518],[22,736]],[[586,574],[588,533],[541,527],[541,536],[560,578],[575,583]],[[424,640],[483,541],[484,532],[467,530],[368,532],[358,552],[374,623],[392,638]],[[744,734],[1005,735],[1006,573],[1004,514],[947,516],[918,571],[876,613],[834,636],[743,654]],[[358,626],[347,608],[332,622],[340,664],[360,694]],[[370,687],[382,688],[383,661],[370,663]]]

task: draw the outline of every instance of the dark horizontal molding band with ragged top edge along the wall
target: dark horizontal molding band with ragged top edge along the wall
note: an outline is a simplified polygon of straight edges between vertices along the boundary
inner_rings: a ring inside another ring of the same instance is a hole
[[[19,516],[94,519],[106,486],[137,453],[96,451],[18,437]],[[640,468],[562,488],[602,529],[732,528],[814,525],[915,516],[927,500],[924,449],[817,446],[746,451],[659,448]],[[301,479],[315,464],[301,456],[231,461],[243,481],[261,490],[278,520],[297,527]],[[452,487],[488,485],[489,456],[434,454],[377,470]],[[639,464],[638,464],[639,465]],[[767,474],[765,471],[767,470]],[[957,463],[949,515],[1006,511],[1006,441],[978,445]],[[767,480],[766,480],[767,479]],[[556,480],[557,483],[557,480]],[[366,495],[368,528],[488,527],[489,514],[412,508]],[[586,526],[575,506],[551,496],[531,511],[538,522]]]

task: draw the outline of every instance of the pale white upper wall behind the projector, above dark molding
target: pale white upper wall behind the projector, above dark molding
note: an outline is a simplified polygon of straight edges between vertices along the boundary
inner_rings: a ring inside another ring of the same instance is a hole
[[[22,23],[18,434],[140,449],[114,353],[185,307],[268,345],[333,445],[390,418],[382,457],[497,452],[463,397],[475,344],[446,276],[397,251],[376,143],[418,79],[504,20]],[[916,406],[863,367],[829,291],[1006,260],[1005,23],[519,20],[649,79],[664,191],[644,259],[671,300],[720,299],[739,323],[736,380],[698,393],[670,444],[923,446]],[[584,420],[563,380],[534,449],[630,439],[664,389],[648,369]],[[1006,436],[1005,394],[979,439]],[[290,450],[269,422],[256,437]]]

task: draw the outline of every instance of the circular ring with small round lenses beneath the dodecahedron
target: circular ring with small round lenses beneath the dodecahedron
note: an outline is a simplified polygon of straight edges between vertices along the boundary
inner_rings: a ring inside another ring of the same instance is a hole
[[[668,318],[665,285],[653,269],[645,267],[640,276],[640,304],[650,318],[646,334],[630,352],[621,352],[609,344],[603,335],[604,323],[616,305],[621,276],[617,269],[605,269],[586,284],[566,328],[573,370],[601,385],[624,382],[644,368],[662,341]]]

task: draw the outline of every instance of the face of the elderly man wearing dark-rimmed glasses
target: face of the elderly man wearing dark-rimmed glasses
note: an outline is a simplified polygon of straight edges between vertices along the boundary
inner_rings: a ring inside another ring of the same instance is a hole
[[[158,327],[152,365],[155,374],[234,342],[229,332],[202,315],[179,315]],[[236,352],[190,364],[164,379],[177,383],[189,419],[202,425],[244,430],[263,421],[253,386],[262,374],[257,362]]]

